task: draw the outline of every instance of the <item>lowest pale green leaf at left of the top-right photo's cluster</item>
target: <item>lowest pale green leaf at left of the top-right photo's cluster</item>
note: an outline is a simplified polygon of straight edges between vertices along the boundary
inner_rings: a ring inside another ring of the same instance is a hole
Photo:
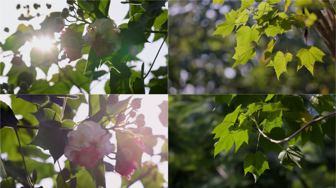
[[[245,65],[247,61],[253,59],[256,54],[254,47],[251,48],[250,43],[240,44],[234,49],[236,50],[236,53],[233,55],[232,59],[235,59],[236,62],[233,64],[232,68],[239,64]]]

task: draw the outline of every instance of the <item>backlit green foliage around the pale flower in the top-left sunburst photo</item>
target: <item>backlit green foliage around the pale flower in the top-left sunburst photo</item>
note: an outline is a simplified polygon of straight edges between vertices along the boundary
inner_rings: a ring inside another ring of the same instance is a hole
[[[32,25],[20,24],[17,31],[9,36],[5,43],[1,44],[4,51],[13,51],[13,59],[16,57],[22,58],[22,52],[19,51],[19,48],[24,46],[27,41],[34,42],[39,39],[43,42],[43,37],[54,40],[54,33],[60,33],[65,26],[65,31],[62,31],[59,39],[55,39],[56,43],[53,44],[51,49],[41,50],[38,47],[31,49],[29,67],[23,61],[20,63],[12,61],[12,68],[6,75],[3,75],[8,77],[9,83],[7,84],[13,83],[15,86],[19,86],[21,81],[26,81],[28,89],[25,90],[24,94],[69,94],[73,87],[76,87],[81,93],[89,94],[90,88],[92,88],[91,83],[94,83],[92,81],[100,82],[101,77],[105,76],[109,82],[107,87],[110,87],[105,90],[107,93],[139,93],[139,91],[133,91],[133,86],[139,86],[142,88],[140,93],[144,93],[144,88],[147,88],[146,91],[151,91],[151,94],[167,94],[168,72],[160,72],[160,74],[156,72],[155,75],[150,72],[145,73],[150,74],[154,81],[158,79],[157,77],[160,77],[160,79],[163,79],[162,82],[156,81],[155,84],[152,84],[149,83],[149,79],[142,79],[139,82],[137,77],[144,72],[135,71],[134,67],[136,66],[133,64],[133,61],[140,61],[136,56],[144,48],[144,43],[165,39],[168,35],[168,10],[164,9],[166,0],[145,0],[132,4],[129,14],[127,14],[128,18],[125,18],[128,19],[128,23],[118,26],[120,28],[118,41],[121,42],[121,49],[103,57],[97,56],[99,53],[94,51],[92,44],[89,46],[85,44],[83,35],[86,32],[86,26],[93,24],[97,19],[113,19],[109,16],[111,0],[92,2],[78,0],[75,2],[72,2],[71,10],[68,7],[65,8],[68,12],[67,20],[63,18],[64,14],[63,17],[60,16],[61,12],[47,13],[48,16],[40,24],[41,29],[37,30]],[[37,17],[30,15],[29,7],[26,8],[28,9],[28,15],[22,15],[22,17],[27,18],[26,20]],[[83,15],[76,14],[75,12],[78,12],[78,10],[82,10]],[[20,18],[19,20],[22,20]],[[151,33],[155,34],[154,39],[148,41]],[[166,39],[163,43],[165,41]],[[56,47],[58,44],[60,44],[59,49]],[[160,50],[156,52],[159,53]],[[155,57],[156,52],[153,51],[153,57]],[[59,53],[63,53],[64,56],[58,58]],[[71,62],[82,58],[84,54],[88,54],[87,59],[77,61],[76,65],[72,64],[64,68],[59,66],[59,63],[65,58],[69,58]],[[146,63],[144,66],[148,65]],[[4,67],[2,64],[0,66],[1,75]],[[103,64],[107,65],[110,71],[100,70]],[[58,67],[56,73],[54,73],[55,66]],[[167,66],[164,67],[167,68]],[[35,68],[41,69],[46,76],[50,76],[50,72],[53,72],[52,79],[39,78],[36,80]],[[108,77],[109,73],[110,78]],[[110,80],[112,81],[110,82]],[[5,93],[11,94],[12,91],[5,91]],[[22,94],[22,92],[18,94]]]

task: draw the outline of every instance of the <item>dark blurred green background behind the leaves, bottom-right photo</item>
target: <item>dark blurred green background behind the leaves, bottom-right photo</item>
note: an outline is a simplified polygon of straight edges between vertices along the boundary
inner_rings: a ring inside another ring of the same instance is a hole
[[[270,152],[266,158],[270,169],[254,184],[251,173],[244,177],[244,157],[255,152],[257,135],[249,135],[249,145],[242,144],[235,153],[230,149],[214,158],[215,126],[231,113],[225,103],[214,112],[213,95],[169,95],[168,98],[168,187],[172,188],[335,188],[335,139],[325,137],[323,149],[307,142],[304,168],[293,171],[281,166],[278,153]],[[287,144],[288,145],[288,144]],[[262,147],[259,148],[263,151]]]

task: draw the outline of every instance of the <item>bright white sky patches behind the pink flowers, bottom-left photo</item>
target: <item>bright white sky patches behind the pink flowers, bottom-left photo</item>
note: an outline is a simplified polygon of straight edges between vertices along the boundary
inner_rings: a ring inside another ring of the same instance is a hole
[[[128,98],[131,95],[119,95],[119,100],[123,100]],[[86,100],[88,100],[88,95],[85,95]],[[130,102],[133,98],[142,98],[141,100],[141,108],[139,109],[138,114],[143,114],[145,116],[145,122],[146,126],[151,127],[153,129],[153,135],[165,135],[166,138],[168,138],[168,127],[164,127],[160,120],[159,120],[159,114],[161,113],[161,109],[158,107],[159,104],[161,104],[164,100],[168,101],[168,95],[160,95],[160,94],[154,94],[154,95],[133,95]],[[11,106],[11,98],[7,94],[0,95],[0,100]],[[167,110],[168,112],[168,110]],[[88,105],[82,103],[79,107],[76,116],[74,117],[74,121],[81,121],[87,117],[88,114]],[[168,116],[168,114],[167,114]],[[112,131],[112,143],[116,143],[115,140],[115,134]],[[164,143],[163,140],[158,139],[158,144],[156,147],[154,147],[154,153],[158,154],[161,152],[162,144]],[[48,150],[44,151],[44,153],[48,153]],[[113,157],[113,155],[111,155]],[[1,157],[4,157],[3,154],[1,154]],[[64,167],[64,161],[67,160],[64,155],[59,159],[59,163],[61,168]],[[168,162],[160,163],[161,157],[160,156],[154,156],[150,157],[147,154],[143,154],[142,156],[142,162],[145,161],[152,161],[159,166],[159,171],[164,174],[165,180],[168,182]],[[107,157],[104,158],[104,161],[109,162],[111,164],[115,164],[115,160],[110,160]],[[53,158],[50,157],[47,161],[47,163],[54,162]],[[29,170],[29,169],[28,169]],[[58,165],[55,165],[55,170],[59,172]],[[114,172],[107,172],[105,174],[106,177],[106,184],[107,185],[115,185],[115,187],[121,187],[121,177],[119,174],[116,174]],[[43,186],[44,188],[52,188],[53,180],[51,178],[46,178],[45,180],[41,181],[39,186]],[[37,187],[39,187],[37,186]],[[109,187],[109,186],[108,186]],[[137,182],[133,184],[130,188],[141,188],[142,184],[140,182]],[[166,187],[168,187],[168,184],[166,184]],[[18,186],[20,188],[20,186]]]

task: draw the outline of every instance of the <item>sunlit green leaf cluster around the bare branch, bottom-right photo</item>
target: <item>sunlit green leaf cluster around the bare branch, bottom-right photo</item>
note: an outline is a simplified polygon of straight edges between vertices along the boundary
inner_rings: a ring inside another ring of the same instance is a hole
[[[325,101],[322,100],[322,96]],[[225,96],[226,99],[231,97],[232,95]],[[323,132],[322,122],[319,121],[303,129],[306,124],[312,121],[313,111],[319,109],[317,104],[325,104],[323,112],[328,112],[322,114],[320,111],[314,117],[318,118],[328,114],[322,119],[331,119],[331,121],[329,120],[330,123],[333,122],[333,118],[335,118],[334,96],[312,95],[310,100],[314,100],[314,103],[308,102],[309,98],[307,97],[300,95],[270,95],[265,100],[264,97],[252,99],[252,96],[249,95],[237,95],[230,100],[223,100],[224,97],[215,95],[216,107],[222,103],[226,105],[230,101],[234,101],[236,105],[239,105],[233,112],[227,114],[223,122],[212,131],[215,134],[214,139],[220,138],[215,143],[214,157],[222,150],[228,152],[234,143],[236,143],[237,152],[243,141],[249,143],[249,136],[256,132],[258,134],[257,149],[255,154],[250,153],[245,157],[245,174],[251,172],[255,181],[257,181],[264,170],[269,169],[265,156],[261,151],[258,151],[259,145],[263,147],[266,154],[270,151],[280,153],[279,161],[284,167],[290,170],[295,165],[302,168],[301,159],[304,157],[302,151],[296,145],[290,145],[287,149],[284,149],[283,142],[288,141],[289,144],[295,144],[301,141],[303,146],[308,141],[311,141],[322,148],[325,134],[334,134],[333,132]],[[306,102],[304,102],[304,98]],[[260,101],[257,102],[258,100]],[[247,105],[248,110],[242,108],[245,106],[246,101],[250,101],[250,104]],[[314,109],[314,107],[317,108]],[[330,124],[330,126],[334,125]]]

